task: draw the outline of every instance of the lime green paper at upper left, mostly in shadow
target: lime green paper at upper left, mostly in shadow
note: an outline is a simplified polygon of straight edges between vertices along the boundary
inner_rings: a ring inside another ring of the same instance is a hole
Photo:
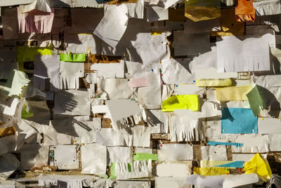
[[[35,55],[52,55],[52,46],[48,46],[47,48],[17,46],[18,62],[34,61]]]

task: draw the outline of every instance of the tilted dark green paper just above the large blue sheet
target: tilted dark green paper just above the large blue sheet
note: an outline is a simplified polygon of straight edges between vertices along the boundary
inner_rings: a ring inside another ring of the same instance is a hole
[[[261,109],[264,108],[263,99],[259,94],[259,89],[255,86],[251,89],[251,92],[247,94],[247,98],[249,100],[251,111],[253,111],[255,116],[258,115]]]

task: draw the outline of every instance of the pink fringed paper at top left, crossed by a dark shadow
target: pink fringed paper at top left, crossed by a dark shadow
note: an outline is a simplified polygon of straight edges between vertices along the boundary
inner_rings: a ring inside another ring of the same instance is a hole
[[[18,7],[18,30],[19,32],[48,33],[52,30],[54,8],[51,13],[32,10],[28,13],[21,13]]]

